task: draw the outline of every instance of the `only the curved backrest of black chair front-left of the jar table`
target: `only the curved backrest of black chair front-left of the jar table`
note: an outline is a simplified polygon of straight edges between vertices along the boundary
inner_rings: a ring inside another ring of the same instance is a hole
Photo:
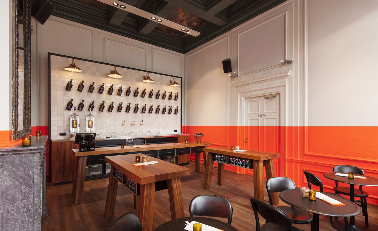
[[[271,222],[275,225],[286,227],[287,231],[291,230],[291,221],[289,217],[280,209],[272,205],[268,205],[267,203],[264,203],[256,198],[251,198],[251,205],[255,214],[256,231],[260,231],[259,214],[257,214],[257,212],[260,213],[266,222]]]

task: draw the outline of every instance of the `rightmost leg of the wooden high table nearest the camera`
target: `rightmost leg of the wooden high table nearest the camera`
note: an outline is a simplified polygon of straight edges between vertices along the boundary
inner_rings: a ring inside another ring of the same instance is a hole
[[[181,191],[180,177],[167,180],[170,205],[170,216],[172,220],[185,217],[183,193]]]

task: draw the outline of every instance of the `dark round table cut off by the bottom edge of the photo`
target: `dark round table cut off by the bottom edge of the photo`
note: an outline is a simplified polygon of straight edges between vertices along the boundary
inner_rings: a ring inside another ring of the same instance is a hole
[[[200,222],[205,225],[213,226],[217,229],[222,229],[224,231],[237,231],[231,225],[228,225],[225,222],[221,222],[220,220],[211,219],[208,217],[183,217],[176,220],[170,220],[169,222],[160,225],[158,228],[154,229],[154,231],[178,231],[184,230],[185,228],[185,221],[191,222],[195,220],[196,222]]]

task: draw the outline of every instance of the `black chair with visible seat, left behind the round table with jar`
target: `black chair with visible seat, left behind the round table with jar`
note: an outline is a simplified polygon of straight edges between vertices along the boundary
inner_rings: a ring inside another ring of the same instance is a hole
[[[273,205],[271,194],[273,192],[282,192],[288,189],[296,189],[293,180],[287,177],[272,177],[266,181],[266,191],[268,191],[269,203]],[[276,206],[282,210],[294,224],[309,224],[312,222],[312,215],[302,209],[294,208],[293,206]],[[312,225],[311,225],[312,230]]]

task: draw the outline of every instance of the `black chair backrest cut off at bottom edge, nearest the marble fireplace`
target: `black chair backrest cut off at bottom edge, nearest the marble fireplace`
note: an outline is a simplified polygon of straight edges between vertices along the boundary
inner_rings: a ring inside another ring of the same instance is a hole
[[[108,231],[142,231],[142,223],[135,213],[126,213],[113,221]]]

